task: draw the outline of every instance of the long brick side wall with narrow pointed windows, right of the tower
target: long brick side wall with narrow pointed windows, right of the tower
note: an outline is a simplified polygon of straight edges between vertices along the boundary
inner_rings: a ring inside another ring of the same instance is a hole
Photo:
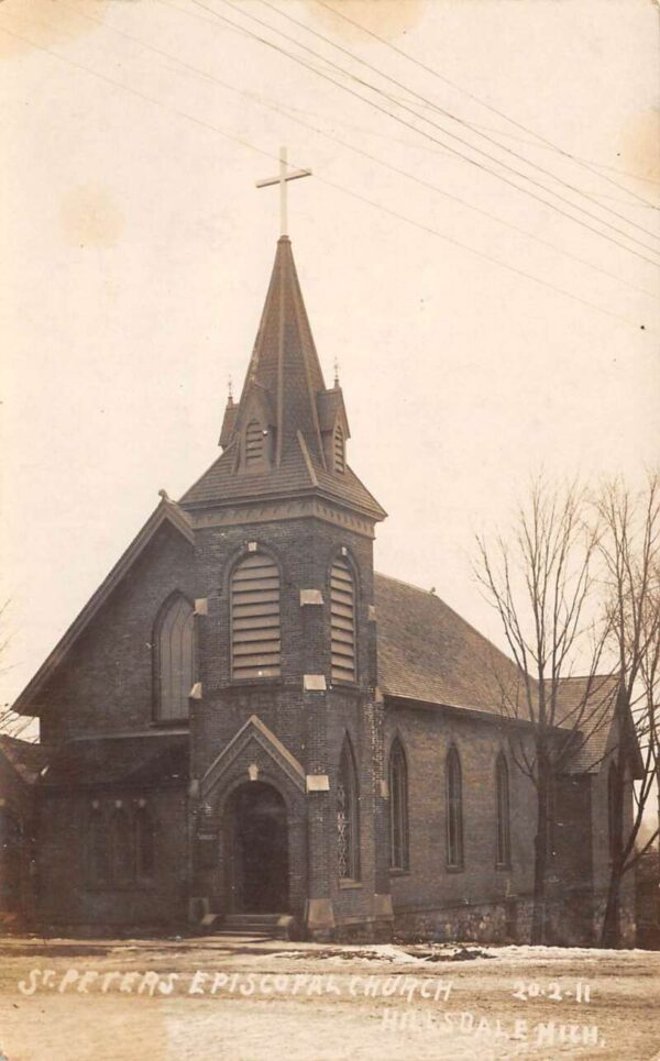
[[[398,931],[438,939],[524,939],[529,929],[536,800],[515,766],[506,737],[493,723],[441,709],[388,707],[386,752],[398,737],[408,772],[409,870],[392,870]],[[447,862],[444,762],[460,755],[463,866]],[[496,865],[495,763],[507,756],[510,866]]]

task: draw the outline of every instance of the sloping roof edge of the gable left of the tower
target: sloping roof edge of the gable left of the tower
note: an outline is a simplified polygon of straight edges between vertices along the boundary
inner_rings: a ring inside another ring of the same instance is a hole
[[[162,501],[152,512],[144,527],[138,532],[129,548],[119,559],[114,567],[106,576],[94,596],[87,601],[82,611],[72,622],[63,638],[57,642],[51,654],[42,663],[41,667],[31,682],[28,683],[16,701],[12,705],[12,710],[19,715],[38,714],[33,710],[34,701],[44,688],[46,682],[55,670],[59,666],[67,652],[80,637],[89,622],[97,615],[106,603],[112,590],[119,585],[127,572],[132,567],[143,550],[151,542],[152,538],[163,527],[168,523],[184,535],[190,543],[194,541],[193,527],[186,512],[183,511],[174,501],[163,493]]]

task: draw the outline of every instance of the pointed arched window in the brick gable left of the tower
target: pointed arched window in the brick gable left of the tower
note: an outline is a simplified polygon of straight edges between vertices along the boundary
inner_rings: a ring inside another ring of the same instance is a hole
[[[188,717],[188,696],[194,684],[195,644],[193,605],[176,594],[158,617],[156,646],[156,716],[162,722]]]

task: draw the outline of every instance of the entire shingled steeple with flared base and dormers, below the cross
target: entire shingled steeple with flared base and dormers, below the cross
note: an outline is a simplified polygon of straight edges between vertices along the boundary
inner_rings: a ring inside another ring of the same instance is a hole
[[[322,495],[372,520],[385,517],[346,463],[349,421],[339,380],[326,387],[290,240],[277,241],[266,300],[238,402],[229,396],[222,456],[184,495],[198,508]]]

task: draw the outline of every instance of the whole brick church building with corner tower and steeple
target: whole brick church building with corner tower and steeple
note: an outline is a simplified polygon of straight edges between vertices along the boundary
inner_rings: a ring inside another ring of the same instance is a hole
[[[162,491],[19,697],[40,743],[0,739],[6,913],[529,937],[536,797],[512,755],[528,723],[503,717],[499,684],[520,674],[433,593],[374,573],[385,511],[349,438],[282,235],[221,456],[179,501]],[[602,917],[610,721],[558,788],[558,942]]]

